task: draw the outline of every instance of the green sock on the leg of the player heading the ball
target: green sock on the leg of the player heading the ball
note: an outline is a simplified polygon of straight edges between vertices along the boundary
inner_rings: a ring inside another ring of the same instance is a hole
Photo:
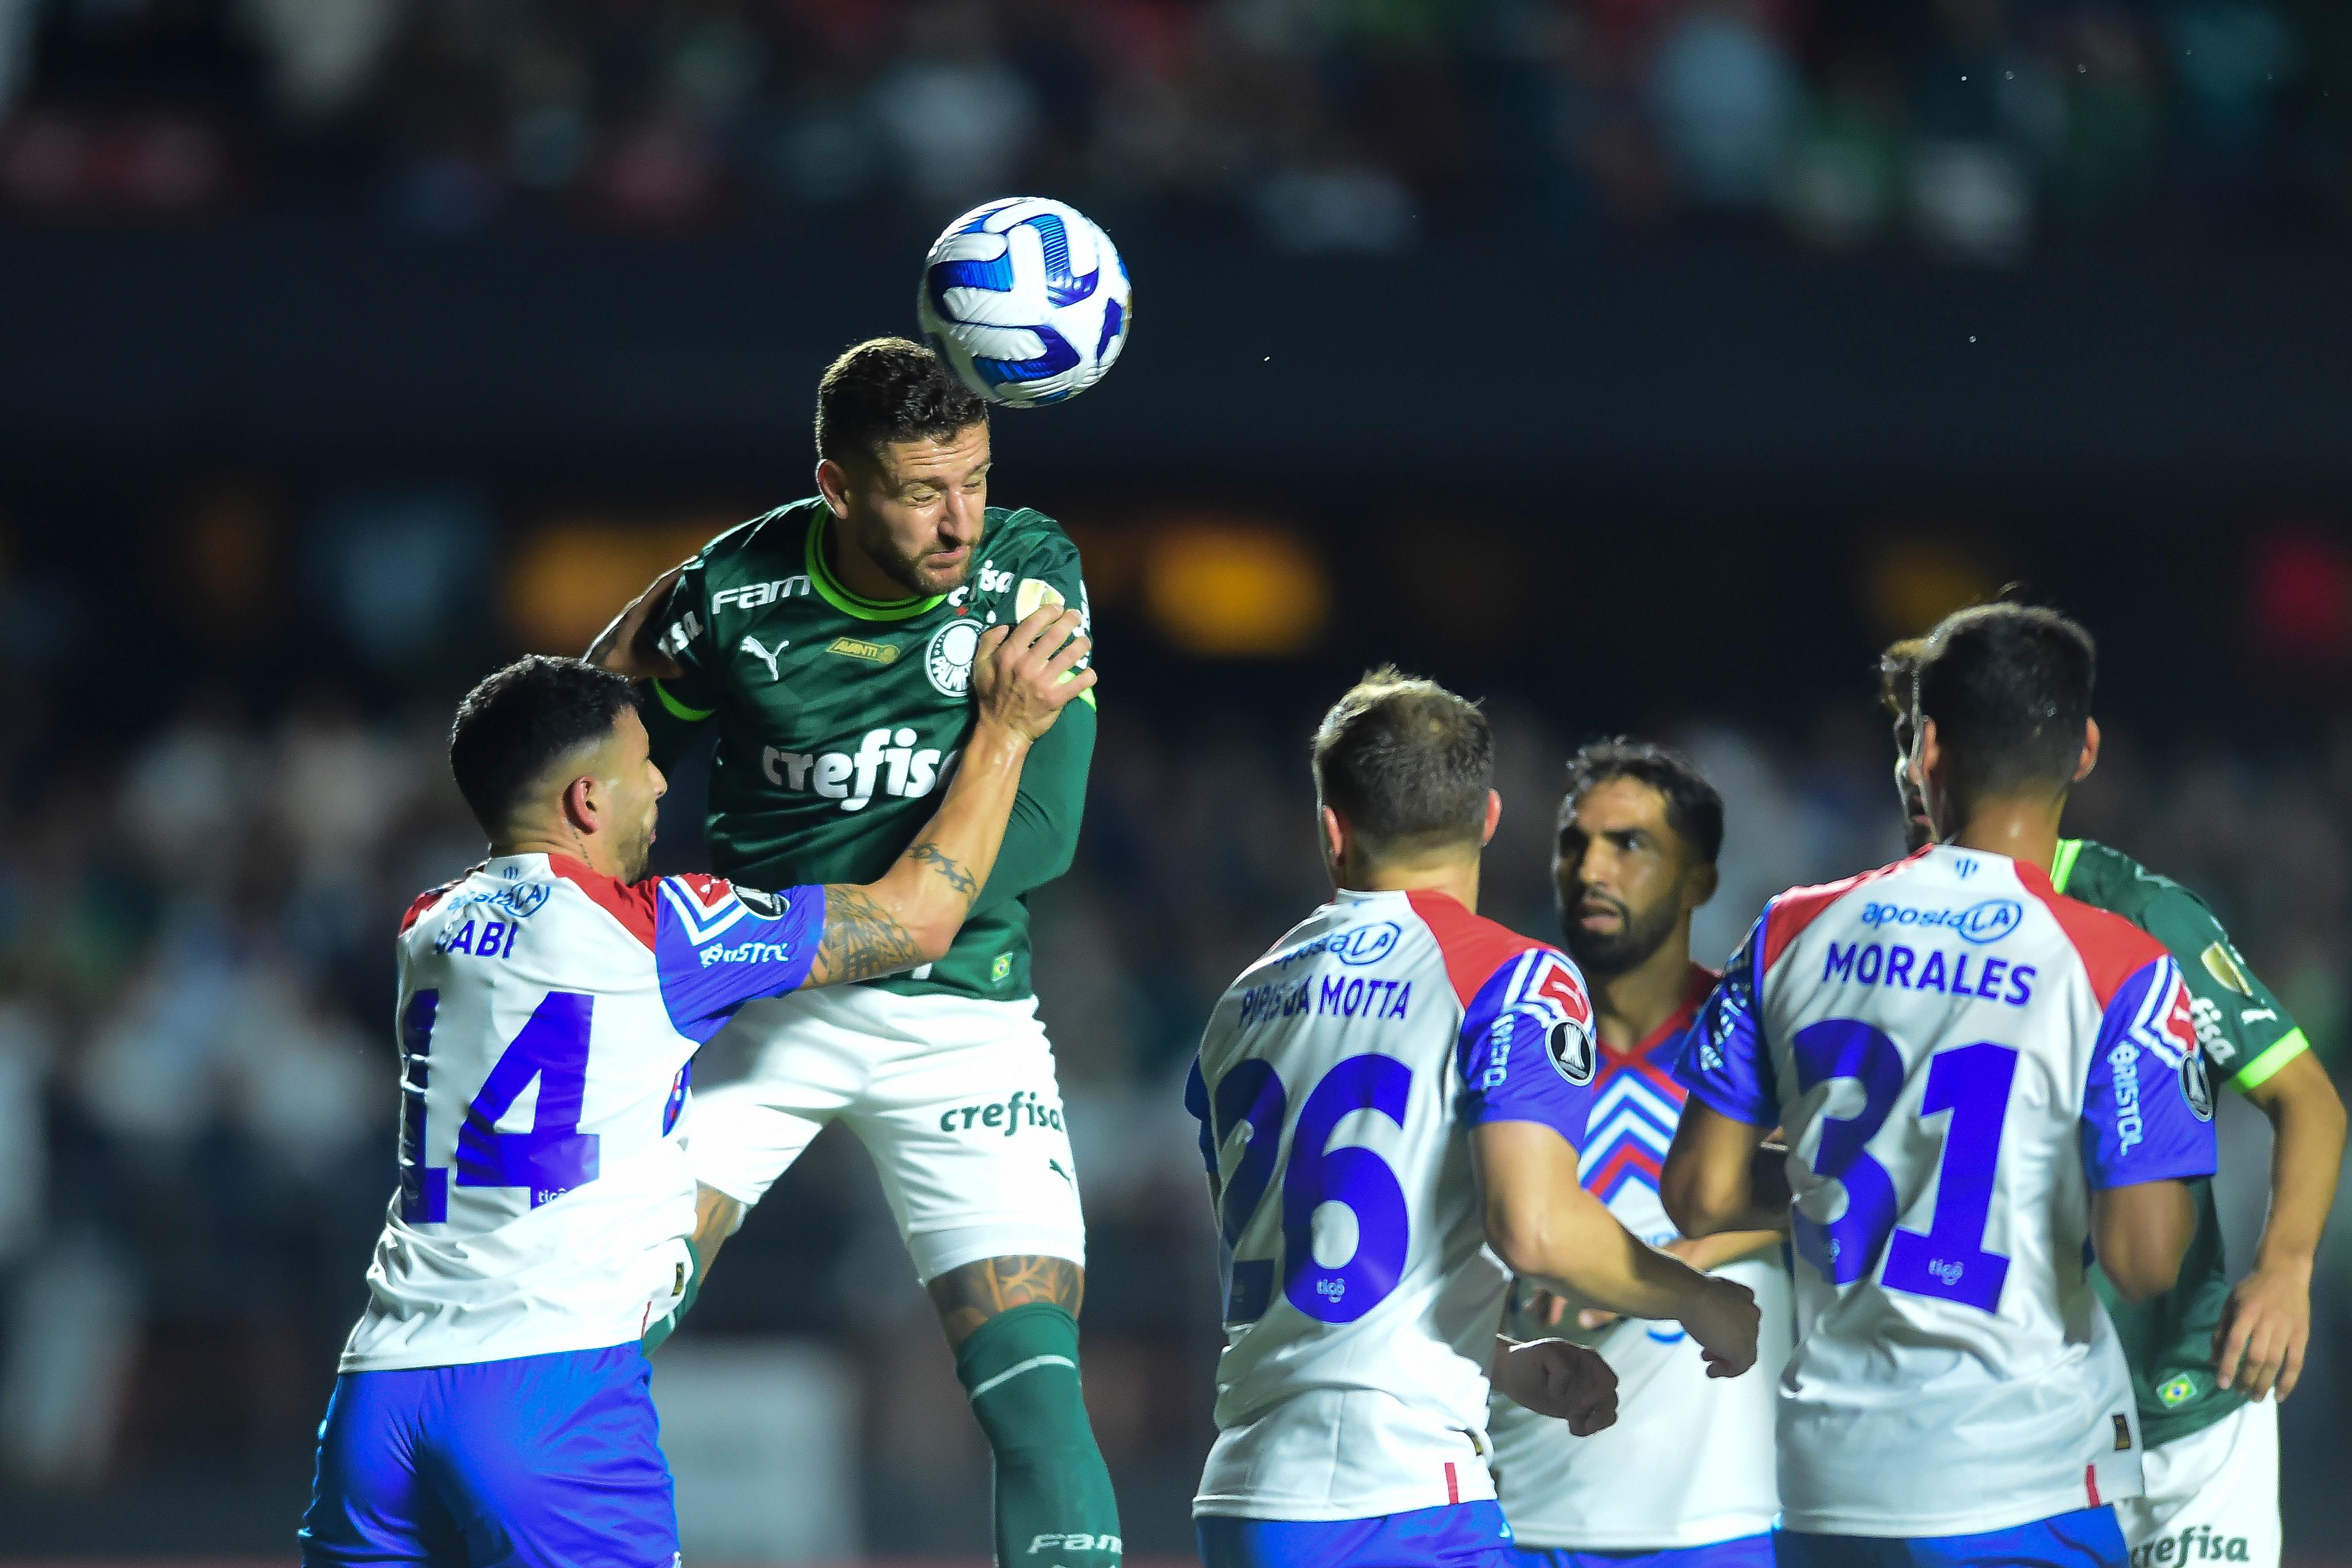
[[[997,1568],[1117,1568],[1120,1502],[1077,1385],[1077,1319],[1030,1302],[981,1324],[955,1375],[997,1455]]]

